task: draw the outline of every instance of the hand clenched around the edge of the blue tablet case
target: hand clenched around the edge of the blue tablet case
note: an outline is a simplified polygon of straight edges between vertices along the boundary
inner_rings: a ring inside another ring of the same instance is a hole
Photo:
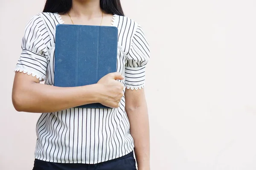
[[[118,108],[124,95],[124,85],[116,80],[122,80],[122,74],[115,72],[107,74],[98,82],[99,85],[99,103],[110,108]]]

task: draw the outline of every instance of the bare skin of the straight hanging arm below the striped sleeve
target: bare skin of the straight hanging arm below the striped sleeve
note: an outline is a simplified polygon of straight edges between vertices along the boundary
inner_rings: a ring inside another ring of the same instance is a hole
[[[125,91],[125,110],[130,122],[131,136],[139,170],[150,170],[148,109],[143,89]]]

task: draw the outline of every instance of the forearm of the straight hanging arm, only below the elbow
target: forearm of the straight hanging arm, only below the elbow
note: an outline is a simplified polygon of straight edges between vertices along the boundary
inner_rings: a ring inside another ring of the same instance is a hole
[[[146,103],[137,108],[126,109],[130,131],[134,139],[134,151],[139,170],[149,170],[149,123]]]

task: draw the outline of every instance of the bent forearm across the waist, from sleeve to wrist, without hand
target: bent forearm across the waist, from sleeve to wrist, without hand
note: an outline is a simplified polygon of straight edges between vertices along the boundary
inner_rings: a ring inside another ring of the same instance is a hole
[[[12,101],[17,111],[48,113],[97,101],[97,85],[61,88],[39,83],[16,87]]]

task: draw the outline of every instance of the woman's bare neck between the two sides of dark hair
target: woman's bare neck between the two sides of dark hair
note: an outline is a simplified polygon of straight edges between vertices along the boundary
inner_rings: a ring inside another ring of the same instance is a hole
[[[70,14],[76,17],[88,18],[102,15],[99,0],[73,0]]]

